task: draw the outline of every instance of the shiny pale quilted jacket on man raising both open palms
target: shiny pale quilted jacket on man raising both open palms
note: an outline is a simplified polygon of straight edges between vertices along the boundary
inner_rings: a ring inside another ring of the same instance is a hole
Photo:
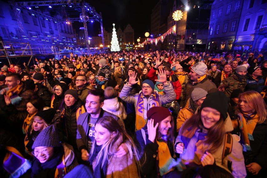
[[[159,95],[160,106],[162,106],[164,104],[168,104],[170,102],[173,102],[175,100],[175,98],[176,98],[176,94],[174,92],[174,88],[173,88],[173,86],[171,85],[170,82],[168,82],[167,85],[163,85],[163,88],[164,88],[164,91],[165,91],[165,95]],[[136,111],[138,97],[139,97],[139,94],[142,91],[132,95],[132,94],[130,94],[131,89],[132,89],[132,87],[129,86],[128,82],[127,82],[123,86],[123,89],[122,89],[122,91],[120,93],[120,98],[123,101],[127,102],[127,103],[134,104],[135,111]],[[154,91],[154,92],[156,92],[156,95],[158,95],[157,91]],[[152,102],[152,97],[153,97],[153,95],[151,95],[149,98],[144,99],[144,119],[145,119],[145,121],[147,120],[146,113],[149,110],[149,108],[151,107],[150,103]]]

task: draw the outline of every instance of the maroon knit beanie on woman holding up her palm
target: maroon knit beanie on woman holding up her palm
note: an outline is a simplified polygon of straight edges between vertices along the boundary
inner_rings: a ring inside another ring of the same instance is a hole
[[[169,109],[165,107],[151,107],[146,113],[147,119],[154,119],[154,125],[171,116]]]

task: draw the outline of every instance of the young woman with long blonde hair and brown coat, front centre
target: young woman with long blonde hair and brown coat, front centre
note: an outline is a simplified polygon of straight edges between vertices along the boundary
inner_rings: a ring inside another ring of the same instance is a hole
[[[132,138],[112,117],[99,118],[95,124],[95,140],[89,161],[93,166],[93,177],[140,177],[139,156]],[[128,154],[117,157],[120,144],[125,143]]]

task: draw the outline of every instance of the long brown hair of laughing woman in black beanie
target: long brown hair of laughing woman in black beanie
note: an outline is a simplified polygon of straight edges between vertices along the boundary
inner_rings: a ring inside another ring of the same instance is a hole
[[[190,119],[187,119],[183,124],[180,132],[185,134],[187,138],[191,139],[198,128],[204,128],[201,121],[201,111],[199,110]],[[187,131],[187,132],[186,132]],[[179,132],[179,133],[180,133]],[[209,130],[204,143],[207,144],[207,151],[214,153],[218,149],[225,139],[225,127],[224,119],[222,115],[217,123],[215,123]]]

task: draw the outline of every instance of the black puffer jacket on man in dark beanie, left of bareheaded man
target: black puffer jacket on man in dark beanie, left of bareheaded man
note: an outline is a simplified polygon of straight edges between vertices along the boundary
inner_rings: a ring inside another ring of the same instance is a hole
[[[78,99],[74,105],[67,107],[64,104],[64,115],[63,115],[63,127],[65,129],[65,136],[68,138],[69,143],[76,149],[76,135],[77,135],[77,118],[76,112],[79,107],[83,105],[81,99]]]

